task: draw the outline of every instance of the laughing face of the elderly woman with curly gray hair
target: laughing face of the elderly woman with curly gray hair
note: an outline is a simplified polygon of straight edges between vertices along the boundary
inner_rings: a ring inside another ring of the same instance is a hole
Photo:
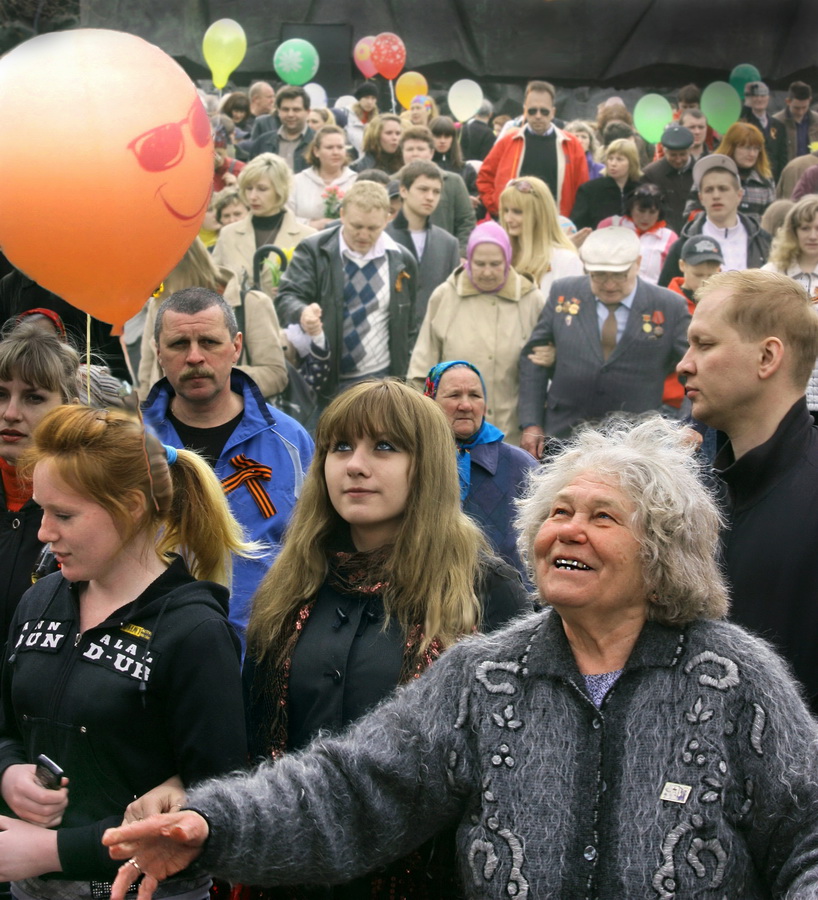
[[[558,611],[606,614],[647,610],[645,580],[622,491],[585,472],[557,494],[534,541],[540,596]]]

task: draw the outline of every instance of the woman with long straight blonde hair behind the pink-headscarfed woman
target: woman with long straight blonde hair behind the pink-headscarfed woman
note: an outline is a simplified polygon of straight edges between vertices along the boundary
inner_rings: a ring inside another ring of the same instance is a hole
[[[584,273],[544,181],[534,177],[510,181],[500,194],[500,222],[511,240],[512,266],[538,284],[543,297],[556,279]]]

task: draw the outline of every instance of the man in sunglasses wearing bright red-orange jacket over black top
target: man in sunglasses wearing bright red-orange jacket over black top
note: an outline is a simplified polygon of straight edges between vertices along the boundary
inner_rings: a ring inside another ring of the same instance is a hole
[[[500,194],[512,178],[541,178],[559,211],[570,216],[577,188],[588,180],[588,163],[579,139],[553,124],[555,90],[547,81],[532,81],[523,101],[525,125],[503,137],[489,151],[477,174],[477,189],[486,210],[497,216]]]

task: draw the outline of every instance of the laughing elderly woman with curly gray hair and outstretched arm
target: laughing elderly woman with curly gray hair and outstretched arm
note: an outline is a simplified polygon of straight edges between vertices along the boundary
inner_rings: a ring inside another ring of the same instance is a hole
[[[722,621],[719,515],[680,432],[581,432],[518,524],[548,609],[455,645],[346,734],[109,831],[130,857],[114,900],[194,860],[343,882],[453,824],[469,897],[818,896],[818,725]]]

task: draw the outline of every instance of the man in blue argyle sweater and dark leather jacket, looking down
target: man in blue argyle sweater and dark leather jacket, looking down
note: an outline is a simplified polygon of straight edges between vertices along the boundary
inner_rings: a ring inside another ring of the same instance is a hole
[[[386,189],[356,182],[341,203],[341,221],[296,247],[276,296],[282,325],[320,314],[329,341],[323,400],[366,378],[403,377],[417,336],[417,263],[385,233]]]

